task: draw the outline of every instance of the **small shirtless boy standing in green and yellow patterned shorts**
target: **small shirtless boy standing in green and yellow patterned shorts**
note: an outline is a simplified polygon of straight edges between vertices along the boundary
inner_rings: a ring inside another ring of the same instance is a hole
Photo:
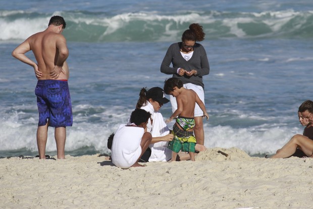
[[[203,115],[208,120],[208,114],[205,110],[203,102],[199,99],[198,95],[189,89],[183,87],[183,82],[175,77],[165,80],[164,91],[166,94],[176,97],[177,109],[171,115],[166,123],[171,122],[178,116],[173,126],[174,139],[169,142],[169,149],[172,150],[172,160],[176,160],[177,153],[182,150],[189,152],[190,159],[194,161],[194,152],[196,139],[193,136],[194,128],[194,107],[197,103]]]

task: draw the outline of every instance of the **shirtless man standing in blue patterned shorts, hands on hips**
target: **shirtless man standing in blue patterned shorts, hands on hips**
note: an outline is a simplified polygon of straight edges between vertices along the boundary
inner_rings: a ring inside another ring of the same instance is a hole
[[[66,127],[73,123],[71,97],[68,87],[69,51],[61,34],[66,26],[63,17],[51,17],[48,27],[28,37],[12,56],[32,66],[38,79],[35,94],[39,111],[37,146],[39,158],[45,159],[48,126],[55,127],[58,159],[64,159]],[[37,63],[25,53],[32,51]]]

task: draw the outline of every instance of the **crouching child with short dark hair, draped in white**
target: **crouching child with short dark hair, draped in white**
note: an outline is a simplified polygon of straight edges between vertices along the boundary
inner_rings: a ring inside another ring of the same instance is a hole
[[[150,116],[143,109],[135,109],[130,116],[131,123],[119,126],[112,142],[113,164],[122,169],[143,166],[138,161],[152,140],[151,134],[144,132]]]

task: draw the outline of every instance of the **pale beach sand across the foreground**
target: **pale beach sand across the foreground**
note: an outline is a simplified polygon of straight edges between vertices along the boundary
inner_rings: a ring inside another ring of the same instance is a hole
[[[312,158],[268,159],[214,148],[195,162],[148,162],[127,170],[105,156],[66,158],[0,159],[0,208],[313,207]]]

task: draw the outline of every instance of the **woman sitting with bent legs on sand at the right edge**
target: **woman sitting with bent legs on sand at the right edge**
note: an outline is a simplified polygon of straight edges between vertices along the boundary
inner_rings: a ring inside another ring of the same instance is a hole
[[[313,124],[313,102],[310,100],[303,102],[299,107],[299,112],[305,121],[310,123],[309,126],[311,126],[311,124]],[[306,135],[306,133],[303,134]],[[296,152],[297,148],[302,150],[305,156],[313,157],[313,140],[309,139],[307,136],[297,134],[270,158],[290,157]]]

